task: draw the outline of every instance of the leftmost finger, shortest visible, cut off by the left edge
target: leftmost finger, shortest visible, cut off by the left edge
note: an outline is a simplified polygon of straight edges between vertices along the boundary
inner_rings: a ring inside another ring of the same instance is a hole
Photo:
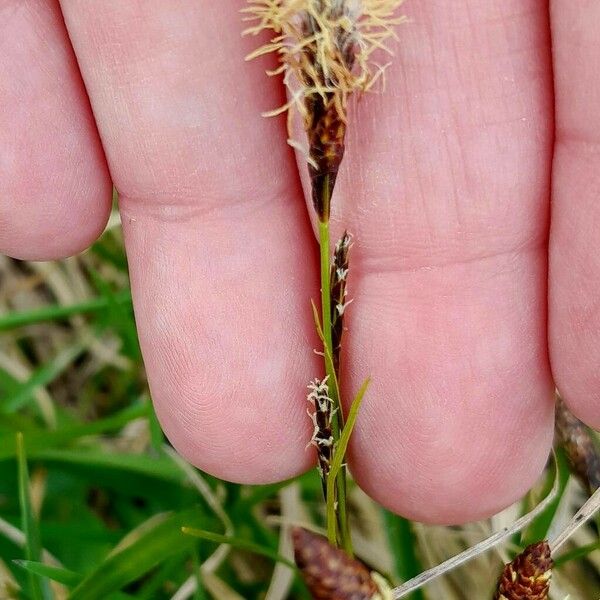
[[[111,184],[58,3],[0,3],[0,251],[75,254],[100,234]]]

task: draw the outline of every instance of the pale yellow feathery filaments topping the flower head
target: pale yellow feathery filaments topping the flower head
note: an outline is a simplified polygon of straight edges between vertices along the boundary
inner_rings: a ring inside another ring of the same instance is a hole
[[[336,110],[345,119],[348,95],[370,89],[381,73],[371,55],[377,49],[391,54],[386,41],[396,37],[394,26],[405,20],[395,16],[404,0],[248,1],[246,19],[258,23],[244,33],[275,35],[247,59],[273,52],[280,66],[268,74],[283,74],[290,86],[293,75],[300,84],[287,105],[268,114],[296,106],[306,118],[305,100],[335,94]]]

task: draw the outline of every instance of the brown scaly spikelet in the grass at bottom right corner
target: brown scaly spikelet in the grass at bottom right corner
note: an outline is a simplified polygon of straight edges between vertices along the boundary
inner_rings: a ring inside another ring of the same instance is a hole
[[[504,567],[494,600],[547,600],[552,566],[548,542],[528,546]]]

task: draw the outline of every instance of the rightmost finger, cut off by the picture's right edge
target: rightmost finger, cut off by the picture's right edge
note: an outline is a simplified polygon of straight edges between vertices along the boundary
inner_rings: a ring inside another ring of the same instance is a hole
[[[551,2],[556,149],[549,335],[557,386],[600,427],[600,5]]]

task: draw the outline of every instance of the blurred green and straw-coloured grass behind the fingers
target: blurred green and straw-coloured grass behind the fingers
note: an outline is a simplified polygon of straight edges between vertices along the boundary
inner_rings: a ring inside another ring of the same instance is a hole
[[[323,523],[316,472],[239,486],[178,458],[152,410],[128,285],[116,213],[80,256],[0,257],[0,598],[309,598],[286,560],[289,525]],[[561,456],[560,496],[523,535],[413,600],[491,597],[502,563],[585,499]],[[398,584],[510,524],[550,471],[522,502],[464,527],[408,522],[351,485],[358,555]],[[595,525],[577,533],[553,598],[600,596],[597,548]]]

